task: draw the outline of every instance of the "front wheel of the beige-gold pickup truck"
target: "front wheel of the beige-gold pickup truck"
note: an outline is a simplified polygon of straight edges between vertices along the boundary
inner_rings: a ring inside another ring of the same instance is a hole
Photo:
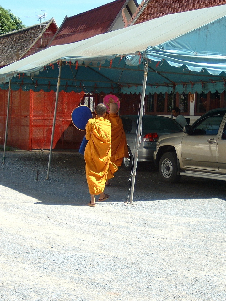
[[[167,183],[175,183],[180,180],[177,175],[177,156],[175,153],[168,152],[162,155],[159,161],[159,174],[161,179]]]

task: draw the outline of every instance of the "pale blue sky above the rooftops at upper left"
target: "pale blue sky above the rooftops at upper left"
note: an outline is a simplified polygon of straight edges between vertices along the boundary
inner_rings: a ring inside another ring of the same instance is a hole
[[[113,0],[112,0],[113,1]],[[92,8],[99,7],[111,0],[0,0],[0,6],[10,9],[11,12],[21,19],[24,25],[30,26],[40,23],[40,14],[47,13],[45,21],[55,19],[58,26],[64,17],[71,17],[83,13]]]

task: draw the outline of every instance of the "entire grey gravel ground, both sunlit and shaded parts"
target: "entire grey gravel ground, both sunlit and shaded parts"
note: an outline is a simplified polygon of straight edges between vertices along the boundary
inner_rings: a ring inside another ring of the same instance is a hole
[[[225,182],[163,184],[140,164],[133,205],[120,168],[92,208],[83,156],[53,152],[49,180],[47,166],[26,151],[0,164],[1,301],[226,300]]]

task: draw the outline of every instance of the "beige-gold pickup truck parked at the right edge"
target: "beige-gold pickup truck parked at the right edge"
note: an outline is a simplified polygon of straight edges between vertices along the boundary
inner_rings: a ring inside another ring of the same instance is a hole
[[[154,161],[164,182],[182,175],[226,181],[226,108],[208,111],[183,132],[159,137]]]

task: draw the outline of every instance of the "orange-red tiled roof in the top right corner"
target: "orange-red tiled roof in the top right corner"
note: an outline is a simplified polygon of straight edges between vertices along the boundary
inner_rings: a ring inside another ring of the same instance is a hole
[[[226,4],[226,0],[146,0],[143,9],[130,20],[139,24],[172,13],[181,13],[190,10],[208,8]]]

